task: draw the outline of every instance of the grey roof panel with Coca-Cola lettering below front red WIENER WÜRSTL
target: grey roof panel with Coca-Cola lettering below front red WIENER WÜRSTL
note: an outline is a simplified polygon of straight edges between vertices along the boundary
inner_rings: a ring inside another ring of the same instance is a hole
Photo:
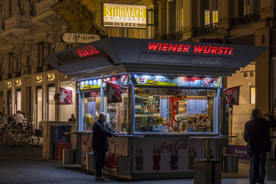
[[[234,58],[141,53],[139,62],[231,66]]]

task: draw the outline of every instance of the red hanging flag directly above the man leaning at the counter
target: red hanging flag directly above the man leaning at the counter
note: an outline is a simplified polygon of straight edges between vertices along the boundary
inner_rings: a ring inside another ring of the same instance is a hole
[[[122,102],[122,86],[106,82],[107,103]]]

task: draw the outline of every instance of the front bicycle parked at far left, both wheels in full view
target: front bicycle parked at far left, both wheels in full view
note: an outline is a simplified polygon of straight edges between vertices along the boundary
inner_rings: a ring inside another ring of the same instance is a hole
[[[19,134],[13,134],[11,128],[7,129],[6,134],[1,135],[0,137],[0,145],[8,147],[12,143],[15,143],[15,145],[19,144],[25,148],[30,147],[33,144],[33,138],[28,134],[22,133],[24,132],[20,132],[19,130]]]

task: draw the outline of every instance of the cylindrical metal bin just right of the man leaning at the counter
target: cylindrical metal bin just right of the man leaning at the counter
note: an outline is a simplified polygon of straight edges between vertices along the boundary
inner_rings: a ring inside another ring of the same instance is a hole
[[[117,156],[117,175],[131,175],[131,156]]]

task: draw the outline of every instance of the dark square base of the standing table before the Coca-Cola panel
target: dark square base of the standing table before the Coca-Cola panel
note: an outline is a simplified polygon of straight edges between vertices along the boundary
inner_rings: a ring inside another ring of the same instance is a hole
[[[221,184],[221,160],[194,160],[194,184]]]

